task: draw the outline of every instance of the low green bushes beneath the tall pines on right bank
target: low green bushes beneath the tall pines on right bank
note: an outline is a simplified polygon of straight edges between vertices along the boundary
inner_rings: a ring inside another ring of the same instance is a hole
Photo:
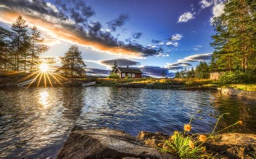
[[[223,83],[249,83],[255,82],[255,70],[226,71],[220,76],[219,81]]]

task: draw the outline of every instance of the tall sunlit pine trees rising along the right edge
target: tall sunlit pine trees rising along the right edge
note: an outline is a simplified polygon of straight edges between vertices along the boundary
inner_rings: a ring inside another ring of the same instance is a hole
[[[224,13],[213,19],[211,71],[255,69],[255,8],[252,0],[226,1]]]

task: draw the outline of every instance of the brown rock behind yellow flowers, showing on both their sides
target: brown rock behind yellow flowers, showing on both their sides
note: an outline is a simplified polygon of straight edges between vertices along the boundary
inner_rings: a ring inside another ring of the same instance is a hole
[[[167,140],[169,135],[163,133],[140,132],[137,136],[145,144],[156,148],[158,143]],[[229,133],[215,136],[215,140],[207,141],[207,153],[215,158],[253,158],[256,147],[256,135]]]

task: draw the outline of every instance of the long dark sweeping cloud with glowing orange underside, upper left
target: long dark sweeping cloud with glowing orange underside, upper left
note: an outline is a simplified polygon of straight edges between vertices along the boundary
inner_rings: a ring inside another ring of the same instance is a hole
[[[125,43],[113,37],[109,31],[104,32],[99,21],[89,20],[95,15],[95,11],[83,1],[65,1],[64,4],[63,1],[57,2],[55,6],[44,0],[0,1],[0,20],[11,24],[22,15],[30,26],[37,25],[49,39],[77,44],[107,54],[131,58],[162,54],[160,49],[145,47],[136,41]],[[108,23],[109,29],[116,30],[128,18],[127,15],[120,15],[111,20]]]

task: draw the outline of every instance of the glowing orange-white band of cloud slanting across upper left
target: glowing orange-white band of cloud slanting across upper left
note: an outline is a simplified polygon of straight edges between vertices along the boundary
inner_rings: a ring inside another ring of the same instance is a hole
[[[26,20],[26,23],[28,23],[30,26],[36,25],[40,30],[42,30],[44,33],[49,35],[51,38],[59,40],[59,41],[65,41],[69,42],[71,44],[77,44],[79,46],[83,47],[89,47],[93,50],[96,50],[98,52],[104,52],[107,54],[112,55],[124,55],[126,57],[130,58],[143,58],[143,54],[140,52],[137,52],[132,49],[126,49],[119,46],[108,46],[104,44],[104,42],[100,41],[93,41],[90,40],[90,38],[84,38],[83,35],[79,35],[76,31],[68,29],[68,27],[63,27],[62,25],[58,25],[58,23],[70,23],[70,21],[58,21],[58,19],[52,18],[52,17],[44,17],[44,19],[38,15],[36,12],[35,14],[25,13],[22,11],[13,11],[6,8],[1,8],[0,6],[0,20],[4,23],[14,23],[15,19],[19,16],[23,16]],[[37,17],[39,16],[39,17]],[[45,20],[48,19],[48,20]],[[51,39],[52,40],[52,39]],[[56,42],[55,40],[55,42]],[[48,43],[49,41],[46,41]],[[48,44],[50,45],[50,44]]]

